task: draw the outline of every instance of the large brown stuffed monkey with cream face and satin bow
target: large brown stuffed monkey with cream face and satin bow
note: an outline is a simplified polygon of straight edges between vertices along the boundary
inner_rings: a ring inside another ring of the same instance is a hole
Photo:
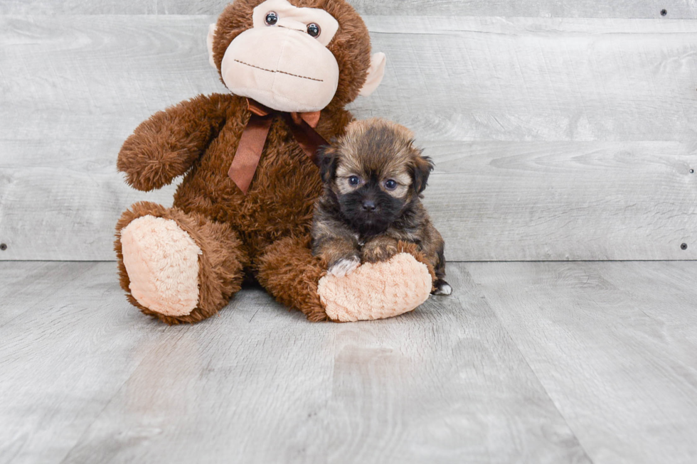
[[[129,301],[165,323],[194,323],[245,277],[312,321],[386,318],[425,301],[432,269],[413,246],[344,278],[326,276],[310,252],[322,190],[314,151],[344,133],[344,107],[385,70],[356,11],[344,0],[237,0],[211,26],[208,51],[231,93],[157,112],[119,152],[138,190],[183,176],[173,207],[136,203],[117,224]]]

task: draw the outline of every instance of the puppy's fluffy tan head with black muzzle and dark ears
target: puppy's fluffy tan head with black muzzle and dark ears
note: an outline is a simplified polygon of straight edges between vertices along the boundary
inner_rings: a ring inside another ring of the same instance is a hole
[[[381,119],[351,123],[321,161],[341,215],[363,235],[385,232],[418,198],[433,168],[408,129]]]

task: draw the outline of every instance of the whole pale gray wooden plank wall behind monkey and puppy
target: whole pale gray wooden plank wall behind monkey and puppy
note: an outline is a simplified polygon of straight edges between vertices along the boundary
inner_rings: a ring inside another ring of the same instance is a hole
[[[171,205],[117,152],[225,91],[205,46],[224,4],[0,0],[0,259],[111,260],[122,210]],[[353,4],[388,70],[352,109],[435,159],[450,260],[697,259],[696,0]]]

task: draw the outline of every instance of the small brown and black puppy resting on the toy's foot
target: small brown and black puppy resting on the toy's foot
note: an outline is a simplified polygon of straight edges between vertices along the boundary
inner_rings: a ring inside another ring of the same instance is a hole
[[[433,164],[413,146],[412,132],[383,119],[353,122],[319,158],[324,194],[315,206],[312,253],[329,274],[390,259],[402,240],[432,264],[434,293],[449,295],[445,242],[420,200]]]

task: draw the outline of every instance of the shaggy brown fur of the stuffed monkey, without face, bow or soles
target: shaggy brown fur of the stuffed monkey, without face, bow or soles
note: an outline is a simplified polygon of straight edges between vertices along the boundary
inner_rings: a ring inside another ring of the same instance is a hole
[[[238,0],[220,15],[212,44],[218,70],[233,38],[252,26],[252,9],[260,3]],[[366,82],[371,64],[368,30],[343,0],[291,3],[325,9],[339,21],[339,31],[328,45],[339,63],[339,89],[316,127],[329,140],[344,133],[352,119],[344,106]],[[303,311],[310,320],[326,320],[317,293],[326,267],[309,250],[313,205],[322,190],[319,171],[283,120],[276,118],[250,190],[243,195],[228,178],[228,169],[249,117],[242,97],[199,95],[157,112],[125,141],[117,166],[134,188],[161,188],[183,175],[173,207],[137,203],[116,227],[121,286],[144,313],[169,324],[203,320],[228,303],[245,275],[252,275],[278,301]],[[147,215],[174,221],[201,249],[198,304],[189,314],[153,311],[130,293],[121,234],[133,220]]]

